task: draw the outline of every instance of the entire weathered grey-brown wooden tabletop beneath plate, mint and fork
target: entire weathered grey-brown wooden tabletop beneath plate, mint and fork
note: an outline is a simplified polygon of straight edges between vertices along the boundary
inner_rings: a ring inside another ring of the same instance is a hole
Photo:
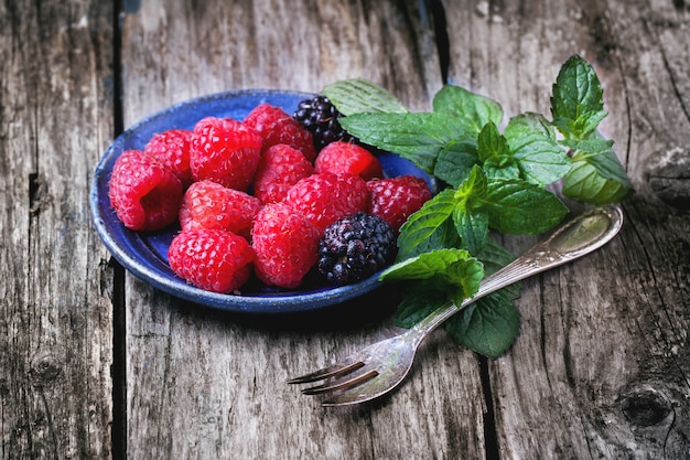
[[[17,0],[0,53],[1,459],[690,458],[687,1]],[[284,381],[385,335],[381,293],[212,311],[126,272],[90,223],[104,150],[174,103],[363,77],[413,109],[448,82],[547,113],[574,53],[637,190],[621,235],[525,282],[507,354],[438,331],[374,404]]]

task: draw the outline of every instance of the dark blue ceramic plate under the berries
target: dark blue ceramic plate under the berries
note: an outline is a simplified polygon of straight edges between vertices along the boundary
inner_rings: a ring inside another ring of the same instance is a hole
[[[236,90],[209,95],[177,104],[159,111],[129,128],[106,150],[100,159],[90,191],[90,211],[96,231],[112,256],[137,277],[155,288],[197,304],[222,310],[278,313],[323,309],[376,289],[380,281],[371,276],[344,287],[310,284],[297,290],[277,290],[250,280],[241,295],[208,292],[188,285],[168,265],[168,246],[179,228],[157,233],[137,233],[126,228],[117,218],[108,199],[108,182],[116,159],[125,150],[141,150],[157,132],[172,128],[192,129],[207,116],[244,120],[261,103],[281,107],[292,114],[298,104],[313,97],[309,93],[270,89]],[[392,153],[379,156],[385,175],[414,174],[431,181],[411,162]]]

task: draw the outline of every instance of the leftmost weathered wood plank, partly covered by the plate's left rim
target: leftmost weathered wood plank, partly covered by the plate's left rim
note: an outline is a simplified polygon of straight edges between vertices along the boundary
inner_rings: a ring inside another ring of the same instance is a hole
[[[111,23],[100,2],[0,4],[2,459],[111,456],[112,272],[88,214]]]

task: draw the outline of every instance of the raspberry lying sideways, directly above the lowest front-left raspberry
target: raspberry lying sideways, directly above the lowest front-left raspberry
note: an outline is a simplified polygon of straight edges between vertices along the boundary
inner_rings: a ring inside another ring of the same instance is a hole
[[[261,201],[213,181],[194,182],[180,206],[182,229],[217,228],[249,237]]]

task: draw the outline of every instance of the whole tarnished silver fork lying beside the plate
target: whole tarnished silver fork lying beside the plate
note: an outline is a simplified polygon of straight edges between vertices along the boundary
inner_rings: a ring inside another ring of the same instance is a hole
[[[535,245],[519,258],[484,278],[477,293],[460,306],[448,302],[413,328],[363,349],[337,364],[288,381],[323,384],[302,389],[305,395],[330,395],[323,406],[364,403],[396,388],[412,367],[424,338],[441,323],[477,299],[516,281],[582,257],[610,242],[623,225],[618,205],[593,207]]]

